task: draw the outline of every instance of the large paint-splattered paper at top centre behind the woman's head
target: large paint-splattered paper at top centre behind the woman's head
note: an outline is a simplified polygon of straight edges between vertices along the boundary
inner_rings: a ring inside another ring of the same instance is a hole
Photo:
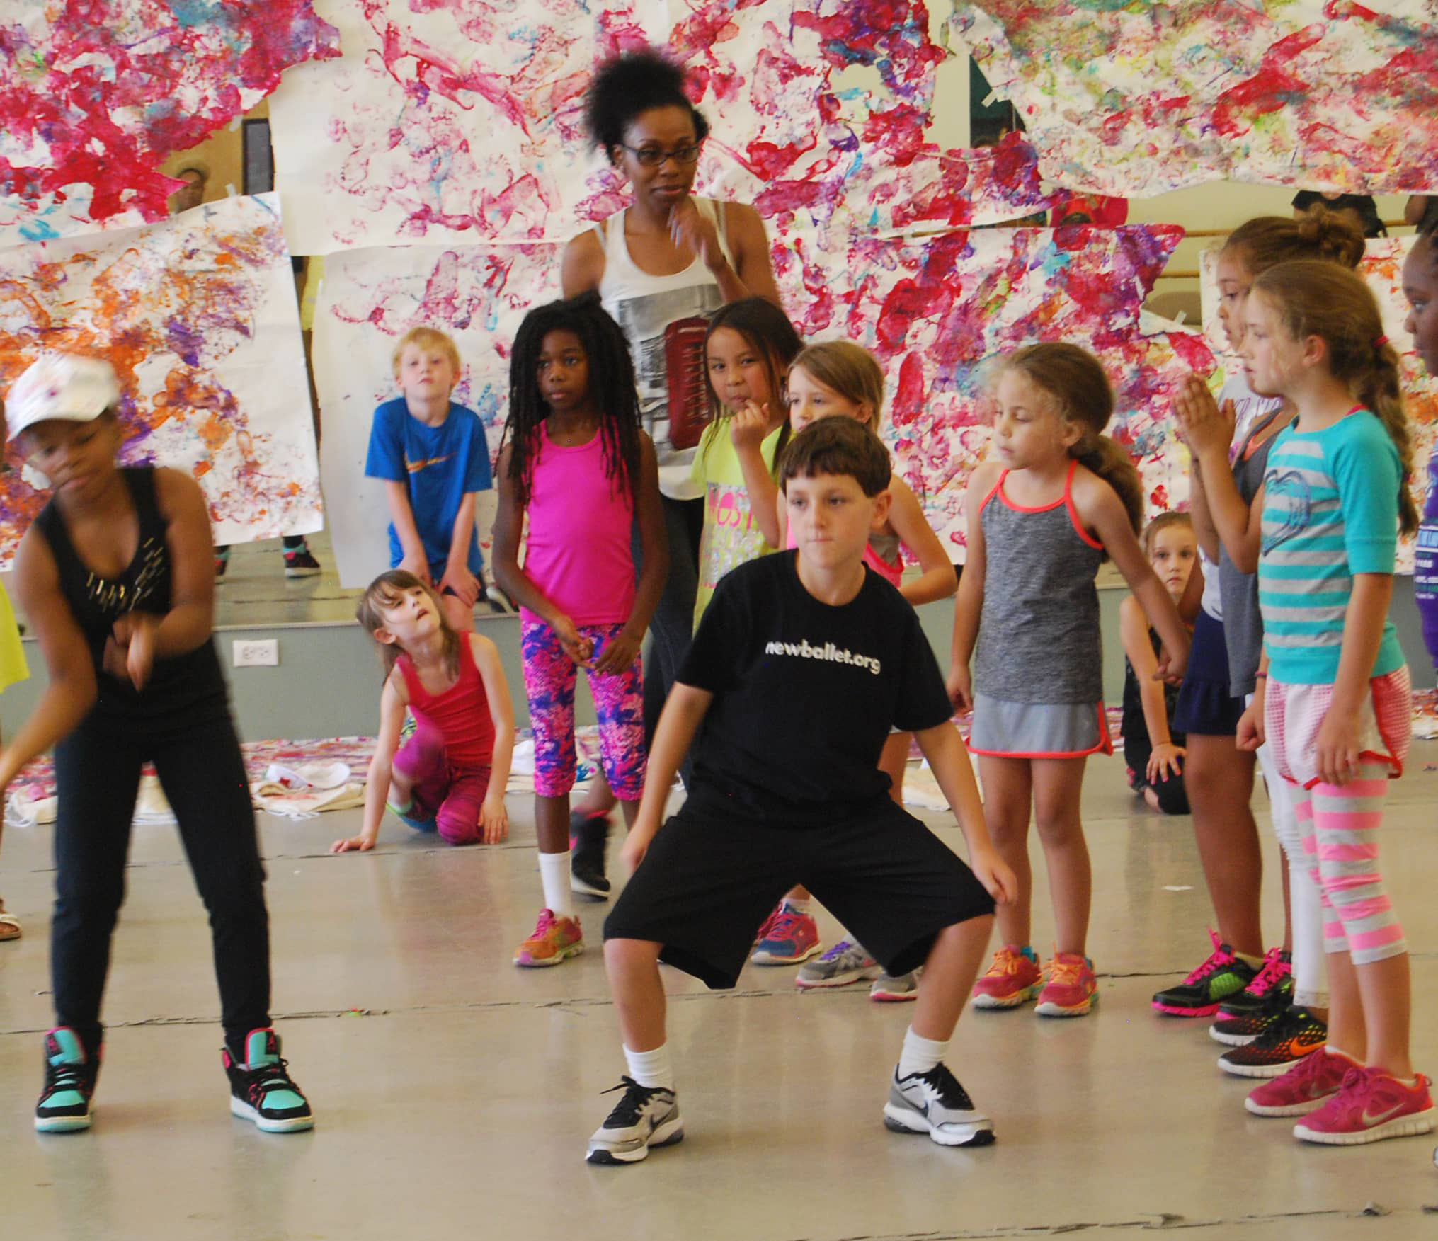
[[[828,226],[989,223],[1034,210],[1031,148],[925,142],[933,69],[920,0],[319,0],[345,55],[272,101],[296,253],[384,244],[565,240],[627,196],[582,125],[590,75],[657,43],[687,65],[713,134],[697,190]],[[874,66],[883,91],[844,88]],[[1012,201],[1005,201],[1007,198]]]

